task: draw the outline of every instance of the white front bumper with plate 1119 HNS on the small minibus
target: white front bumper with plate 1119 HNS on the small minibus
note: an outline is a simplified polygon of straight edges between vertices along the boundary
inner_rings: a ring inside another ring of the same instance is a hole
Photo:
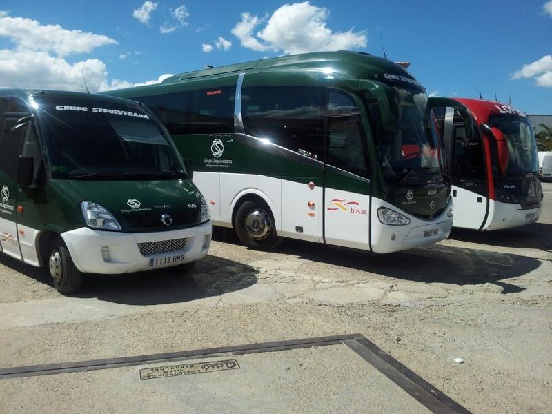
[[[155,233],[82,227],[61,233],[61,237],[81,272],[113,275],[195,262],[207,255],[211,233],[207,221],[193,228]]]

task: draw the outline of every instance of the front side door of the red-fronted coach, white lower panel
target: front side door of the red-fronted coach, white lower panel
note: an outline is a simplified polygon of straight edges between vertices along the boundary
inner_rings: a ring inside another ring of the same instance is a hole
[[[481,136],[461,103],[433,106],[433,112],[453,178],[454,226],[479,229],[489,204]]]

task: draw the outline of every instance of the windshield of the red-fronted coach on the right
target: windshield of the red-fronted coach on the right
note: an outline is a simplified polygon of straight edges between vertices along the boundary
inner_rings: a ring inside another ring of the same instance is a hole
[[[500,129],[508,142],[507,175],[520,175],[527,172],[538,173],[539,161],[535,135],[529,120],[512,115],[491,117],[491,126]]]

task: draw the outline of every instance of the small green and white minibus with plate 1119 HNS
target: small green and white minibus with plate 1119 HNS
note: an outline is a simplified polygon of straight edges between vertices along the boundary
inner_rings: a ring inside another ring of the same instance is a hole
[[[207,254],[208,206],[145,106],[0,89],[0,126],[0,251],[48,266],[59,292]]]

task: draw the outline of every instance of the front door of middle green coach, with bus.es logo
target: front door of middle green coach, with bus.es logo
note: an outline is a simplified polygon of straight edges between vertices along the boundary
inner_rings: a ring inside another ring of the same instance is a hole
[[[370,250],[368,151],[359,115],[326,117],[324,242]]]

